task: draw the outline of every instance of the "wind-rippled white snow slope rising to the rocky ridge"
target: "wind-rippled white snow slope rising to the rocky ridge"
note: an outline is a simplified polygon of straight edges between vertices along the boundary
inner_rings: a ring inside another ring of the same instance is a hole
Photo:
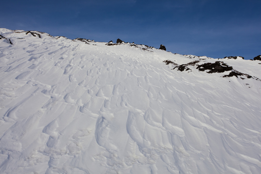
[[[261,173],[259,80],[35,33],[0,29],[0,173]],[[259,61],[220,61],[261,78]]]

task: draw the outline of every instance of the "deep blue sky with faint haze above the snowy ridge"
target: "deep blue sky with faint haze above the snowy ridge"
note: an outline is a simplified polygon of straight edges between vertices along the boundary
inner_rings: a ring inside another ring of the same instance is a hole
[[[261,54],[261,0],[2,0],[0,27],[223,58]]]

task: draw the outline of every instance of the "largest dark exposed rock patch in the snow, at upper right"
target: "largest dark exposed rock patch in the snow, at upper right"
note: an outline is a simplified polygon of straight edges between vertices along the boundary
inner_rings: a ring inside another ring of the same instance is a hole
[[[233,68],[225,64],[224,62],[216,61],[215,63],[205,63],[198,65],[197,69],[199,71],[210,70],[207,73],[223,73],[225,71],[230,71]]]

